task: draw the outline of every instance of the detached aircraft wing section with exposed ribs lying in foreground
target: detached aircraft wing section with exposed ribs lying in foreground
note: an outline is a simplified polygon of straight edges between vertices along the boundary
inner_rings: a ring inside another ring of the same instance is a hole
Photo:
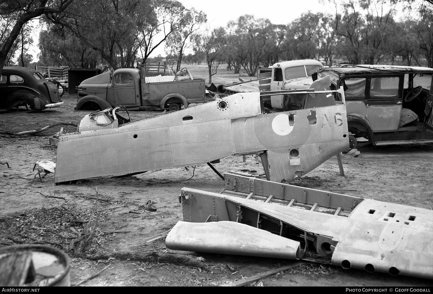
[[[433,278],[433,211],[225,174],[218,193],[183,188],[170,249],[303,259]],[[270,246],[269,244],[273,244]]]

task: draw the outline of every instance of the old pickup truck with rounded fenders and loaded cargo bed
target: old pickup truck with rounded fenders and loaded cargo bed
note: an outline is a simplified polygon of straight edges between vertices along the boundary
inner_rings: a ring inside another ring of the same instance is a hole
[[[157,77],[152,78],[155,80]],[[171,81],[166,78],[171,78]],[[147,106],[155,106],[174,111],[181,109],[182,105],[187,108],[190,103],[214,100],[206,97],[203,79],[173,79],[172,76],[165,76],[159,77],[158,82],[146,82],[144,71],[136,68],[105,72],[81,82],[75,109],[123,106],[128,110],[144,110]]]

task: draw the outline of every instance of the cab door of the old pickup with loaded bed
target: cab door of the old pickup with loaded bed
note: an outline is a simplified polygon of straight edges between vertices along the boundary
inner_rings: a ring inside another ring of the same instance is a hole
[[[132,74],[118,73],[113,78],[114,104],[136,104],[136,85]]]

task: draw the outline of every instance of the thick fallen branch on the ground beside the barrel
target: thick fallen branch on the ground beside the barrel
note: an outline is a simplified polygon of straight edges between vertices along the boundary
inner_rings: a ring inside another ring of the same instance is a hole
[[[174,263],[177,265],[187,265],[192,266],[196,268],[203,268],[210,272],[210,268],[198,260],[197,258],[193,256],[188,256],[184,254],[178,254],[178,253],[158,253],[158,252],[151,252],[148,254],[140,254],[140,253],[134,253],[134,252],[111,252],[106,254],[101,254],[98,256],[90,256],[90,255],[84,255],[79,256],[81,258],[89,259],[89,260],[100,260],[100,259],[109,259],[110,257],[114,257],[116,259],[128,259],[128,260],[135,260],[135,261],[150,261],[150,262],[158,262],[158,263]]]

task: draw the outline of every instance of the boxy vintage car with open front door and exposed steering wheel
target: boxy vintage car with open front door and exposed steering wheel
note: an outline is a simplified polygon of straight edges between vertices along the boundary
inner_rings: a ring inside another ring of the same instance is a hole
[[[352,149],[358,137],[373,145],[433,142],[433,68],[345,65],[323,68],[313,80],[326,76],[330,89],[344,90]]]

